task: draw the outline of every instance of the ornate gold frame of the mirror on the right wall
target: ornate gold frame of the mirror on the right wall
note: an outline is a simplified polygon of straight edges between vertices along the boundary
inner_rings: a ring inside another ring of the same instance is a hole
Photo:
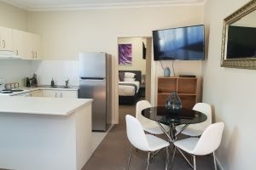
[[[252,0],[224,19],[223,31],[222,31],[222,46],[221,46],[221,64],[220,64],[222,67],[256,69],[255,58],[225,59],[228,26],[236,22],[236,20],[240,20],[243,16],[253,12],[255,9],[256,9],[256,0]]]

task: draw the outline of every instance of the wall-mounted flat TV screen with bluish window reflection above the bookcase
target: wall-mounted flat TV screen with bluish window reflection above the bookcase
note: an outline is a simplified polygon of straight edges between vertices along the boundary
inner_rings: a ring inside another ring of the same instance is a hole
[[[205,59],[204,26],[186,26],[153,31],[154,60]]]

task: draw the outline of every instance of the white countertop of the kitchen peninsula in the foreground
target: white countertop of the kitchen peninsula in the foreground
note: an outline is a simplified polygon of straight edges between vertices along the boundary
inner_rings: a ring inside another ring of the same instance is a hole
[[[93,99],[0,96],[0,113],[68,116]]]

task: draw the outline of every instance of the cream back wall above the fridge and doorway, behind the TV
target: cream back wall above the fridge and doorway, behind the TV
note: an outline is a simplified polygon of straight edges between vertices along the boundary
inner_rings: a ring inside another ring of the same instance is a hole
[[[118,37],[151,37],[153,30],[201,24],[203,7],[182,5],[158,8],[31,12],[29,18],[29,30],[42,35],[46,59],[77,59],[81,51],[104,51],[113,54],[113,77],[115,78],[113,84],[117,87]],[[194,62],[191,63],[194,65]],[[200,62],[195,65],[201,66]],[[183,67],[190,67],[190,65]],[[153,77],[154,68],[153,62]],[[161,70],[157,67],[157,74],[159,71]],[[155,81],[155,78],[153,80]],[[151,87],[152,95],[155,91],[154,81]],[[113,102],[115,120],[113,121],[118,122],[117,88],[114,88],[113,96],[115,100]],[[154,103],[154,99],[152,102]]]

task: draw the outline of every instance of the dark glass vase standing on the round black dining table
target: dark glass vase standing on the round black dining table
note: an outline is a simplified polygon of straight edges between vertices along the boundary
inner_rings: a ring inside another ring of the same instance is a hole
[[[181,100],[177,95],[177,91],[171,92],[166,100],[166,108],[171,109],[172,111],[180,111],[183,108]]]

